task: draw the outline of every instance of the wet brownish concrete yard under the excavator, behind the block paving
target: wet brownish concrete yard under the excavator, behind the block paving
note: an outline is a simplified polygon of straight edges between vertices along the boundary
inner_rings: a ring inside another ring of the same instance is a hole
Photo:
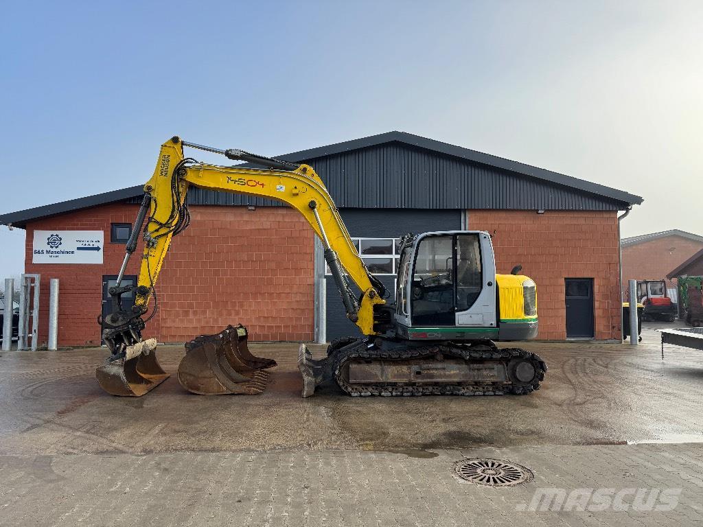
[[[278,360],[257,396],[197,396],[175,375],[141,398],[103,393],[104,350],[6,353],[0,360],[0,453],[427,451],[477,446],[621,444],[703,437],[703,356],[658,335],[634,346],[525,343],[550,365],[528,396],[351,398],[335,385],[300,397],[297,344],[251,344]],[[323,346],[311,346],[318,356]],[[255,351],[254,351],[255,350]],[[160,346],[176,372],[183,346]],[[31,419],[27,416],[31,416]],[[46,425],[46,426],[45,426]]]

